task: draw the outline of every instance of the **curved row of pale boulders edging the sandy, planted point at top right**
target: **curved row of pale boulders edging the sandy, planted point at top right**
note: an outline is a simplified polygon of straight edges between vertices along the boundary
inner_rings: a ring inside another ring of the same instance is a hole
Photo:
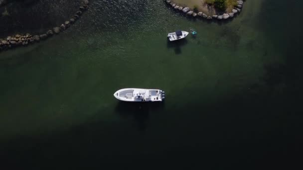
[[[237,6],[234,7],[234,9],[232,10],[232,12],[229,13],[223,13],[223,14],[215,14],[215,15],[207,15],[206,13],[203,12],[194,12],[193,9],[190,9],[189,7],[183,7],[180,6],[174,2],[172,2],[171,0],[163,0],[164,2],[166,2],[167,6],[171,7],[172,9],[174,9],[175,11],[181,12],[186,14],[186,16],[199,16],[201,18],[207,19],[207,20],[227,20],[227,19],[232,19],[234,16],[236,16],[237,14],[239,14],[241,12],[241,9],[243,7],[243,0],[238,0],[237,1]]]

